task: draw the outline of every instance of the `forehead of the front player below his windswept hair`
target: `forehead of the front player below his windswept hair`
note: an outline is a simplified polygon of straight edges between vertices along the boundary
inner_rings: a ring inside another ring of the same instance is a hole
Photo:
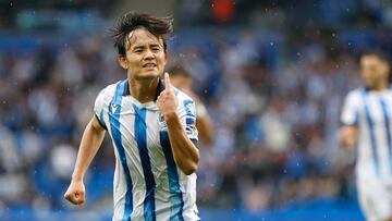
[[[163,46],[163,39],[152,35],[145,28],[137,28],[132,30],[127,36],[127,45],[130,48],[144,45],[160,45]]]

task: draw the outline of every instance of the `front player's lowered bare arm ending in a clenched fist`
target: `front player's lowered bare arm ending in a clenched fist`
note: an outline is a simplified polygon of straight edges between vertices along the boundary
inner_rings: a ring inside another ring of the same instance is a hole
[[[64,194],[64,198],[74,205],[81,205],[85,201],[84,175],[102,144],[105,132],[94,115],[83,133],[71,184]]]

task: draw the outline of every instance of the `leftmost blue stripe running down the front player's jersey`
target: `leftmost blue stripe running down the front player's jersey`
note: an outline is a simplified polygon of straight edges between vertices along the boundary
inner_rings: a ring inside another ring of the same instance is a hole
[[[131,213],[133,211],[133,198],[132,198],[133,184],[132,184],[131,172],[126,162],[125,150],[122,145],[122,138],[120,133],[120,112],[121,112],[120,105],[122,99],[121,93],[124,90],[123,88],[124,83],[125,81],[117,85],[114,97],[112,99],[112,102],[109,105],[109,121],[110,121],[112,137],[121,160],[121,165],[125,173],[126,193],[125,193],[124,216],[122,220],[130,221]]]

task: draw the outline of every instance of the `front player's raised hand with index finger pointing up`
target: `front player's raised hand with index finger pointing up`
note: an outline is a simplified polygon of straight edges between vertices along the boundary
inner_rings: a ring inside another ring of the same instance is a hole
[[[179,105],[168,73],[164,73],[164,90],[161,91],[161,94],[157,98],[157,106],[161,111],[164,121],[167,121],[169,118],[176,114],[176,108]]]

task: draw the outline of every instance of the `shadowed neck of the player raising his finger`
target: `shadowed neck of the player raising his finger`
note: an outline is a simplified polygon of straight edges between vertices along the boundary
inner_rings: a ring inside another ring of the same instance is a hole
[[[128,78],[130,94],[140,103],[154,101],[157,93],[159,78],[152,81],[137,81],[135,78]]]

